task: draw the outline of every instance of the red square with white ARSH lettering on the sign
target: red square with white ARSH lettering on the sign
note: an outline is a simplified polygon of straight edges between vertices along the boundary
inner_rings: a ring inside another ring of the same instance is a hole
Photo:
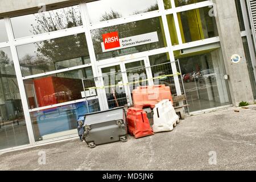
[[[102,34],[105,50],[120,47],[118,32]]]

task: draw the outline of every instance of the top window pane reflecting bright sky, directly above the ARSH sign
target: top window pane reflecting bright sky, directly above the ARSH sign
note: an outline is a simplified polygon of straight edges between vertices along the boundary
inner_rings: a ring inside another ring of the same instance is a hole
[[[158,10],[156,0],[105,0],[87,3],[90,23]]]

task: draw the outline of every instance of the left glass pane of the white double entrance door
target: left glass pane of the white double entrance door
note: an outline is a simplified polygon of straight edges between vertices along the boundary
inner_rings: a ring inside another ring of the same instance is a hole
[[[123,84],[123,77],[120,65],[102,68],[102,76],[104,81],[106,98],[108,100],[109,109],[121,107],[127,104],[127,98],[124,86],[115,86]]]

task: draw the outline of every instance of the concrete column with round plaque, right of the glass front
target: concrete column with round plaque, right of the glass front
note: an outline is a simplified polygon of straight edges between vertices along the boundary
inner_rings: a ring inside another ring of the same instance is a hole
[[[236,4],[234,0],[213,0],[216,3],[216,22],[224,64],[229,75],[229,88],[234,106],[241,101],[254,104],[253,91],[251,89],[249,73],[247,69],[245,51],[240,33],[237,17]],[[231,57],[238,54],[242,60],[238,64],[231,61]]]

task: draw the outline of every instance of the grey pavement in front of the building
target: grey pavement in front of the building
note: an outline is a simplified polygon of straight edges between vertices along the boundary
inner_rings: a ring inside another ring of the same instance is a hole
[[[234,110],[193,115],[170,133],[126,143],[90,149],[73,139],[0,154],[0,170],[256,170],[256,105]],[[40,151],[45,165],[38,163]]]

